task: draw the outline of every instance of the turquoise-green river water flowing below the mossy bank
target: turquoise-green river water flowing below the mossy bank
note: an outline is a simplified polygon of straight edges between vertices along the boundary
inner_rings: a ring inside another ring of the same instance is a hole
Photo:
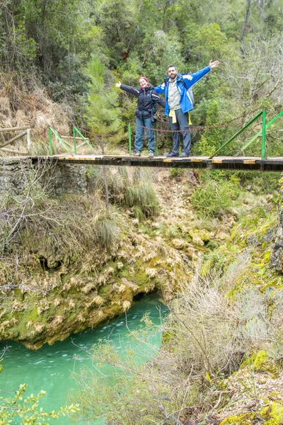
[[[50,411],[57,410],[67,403],[67,392],[71,388],[76,388],[76,382],[71,378],[71,371],[76,371],[82,365],[91,367],[91,359],[86,356],[85,351],[89,351],[93,344],[98,341],[110,341],[118,351],[127,348],[134,348],[139,351],[139,343],[128,338],[129,330],[133,331],[140,327],[145,327],[141,318],[145,313],[149,313],[154,324],[161,323],[161,317],[167,313],[166,306],[161,304],[157,295],[148,295],[134,303],[134,306],[127,313],[112,320],[108,324],[96,329],[88,329],[81,334],[74,334],[65,341],[57,341],[54,345],[45,345],[40,350],[30,351],[22,344],[11,341],[0,343],[0,350],[4,346],[11,346],[4,356],[2,365],[4,371],[0,374],[0,389],[6,392],[15,392],[22,383],[28,384],[27,395],[37,394],[40,390],[45,390],[47,394],[40,399],[39,407]],[[127,322],[127,325],[126,325]],[[151,339],[153,347],[161,345],[161,332],[156,332]],[[156,350],[148,352],[147,356],[156,355]],[[76,358],[76,361],[74,360]],[[144,358],[146,361],[146,358]],[[4,396],[4,393],[1,394]],[[50,420],[50,424],[70,425],[71,419],[60,417],[57,420]],[[21,421],[14,421],[13,425],[21,424]],[[93,421],[92,424],[103,424],[103,421]]]

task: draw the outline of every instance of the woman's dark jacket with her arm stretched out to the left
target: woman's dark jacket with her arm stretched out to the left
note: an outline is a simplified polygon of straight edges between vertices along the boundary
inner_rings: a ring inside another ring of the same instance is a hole
[[[166,103],[158,96],[154,90],[154,86],[147,86],[145,89],[135,89],[134,87],[121,84],[120,89],[137,97],[137,111],[134,115],[141,120],[151,117],[152,109],[156,103],[159,103],[165,108]]]

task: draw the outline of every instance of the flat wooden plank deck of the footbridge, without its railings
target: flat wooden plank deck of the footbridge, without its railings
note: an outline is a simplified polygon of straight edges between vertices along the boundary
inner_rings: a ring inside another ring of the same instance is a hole
[[[57,164],[88,164],[112,166],[147,166],[190,169],[228,169],[246,171],[283,171],[283,157],[134,157],[129,155],[59,154],[30,157],[33,162],[50,161]]]

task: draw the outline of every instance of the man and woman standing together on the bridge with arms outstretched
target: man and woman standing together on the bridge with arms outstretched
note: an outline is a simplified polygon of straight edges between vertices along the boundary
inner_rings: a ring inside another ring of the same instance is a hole
[[[169,117],[171,130],[173,130],[173,149],[167,157],[188,157],[190,155],[191,137],[189,130],[188,113],[194,108],[192,104],[191,87],[206,75],[210,69],[218,67],[219,61],[210,61],[209,66],[195,74],[178,74],[175,65],[169,65],[168,77],[163,84],[151,86],[146,77],[139,78],[140,89],[116,83],[116,87],[133,94],[138,99],[136,116],[136,137],[134,139],[134,155],[140,157],[144,145],[144,128],[149,142],[149,158],[154,157],[154,122],[156,120],[157,103],[165,108],[165,115]],[[165,94],[163,101],[158,94]],[[183,153],[180,154],[180,130],[183,135]]]

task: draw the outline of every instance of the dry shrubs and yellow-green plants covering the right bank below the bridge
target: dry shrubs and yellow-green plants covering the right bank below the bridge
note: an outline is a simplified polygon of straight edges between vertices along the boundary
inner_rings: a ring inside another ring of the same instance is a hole
[[[270,388],[280,392],[283,373],[282,278],[270,267],[275,193],[265,193],[264,179],[241,181],[238,174],[221,171],[200,173],[200,181],[190,198],[202,212],[200,218],[189,230],[186,222],[168,229],[158,225],[151,228],[151,237],[156,229],[164,237],[178,237],[183,242],[178,249],[185,251],[183,227],[196,248],[196,235],[210,241],[208,232],[217,234],[217,227],[225,227],[221,222],[233,219],[230,236],[216,246],[202,245],[202,265],[190,263],[192,273],[188,268],[187,280],[179,280],[156,358],[141,364],[137,353],[120,356],[110,344],[94,348],[96,368],[76,375],[81,390],[70,396],[82,407],[77,419],[103,416],[106,424],[115,425],[185,424],[204,423],[213,415],[223,425],[255,424],[259,417],[280,423],[282,399],[270,393]],[[256,194],[259,187],[261,196]],[[229,199],[226,205],[216,204],[221,190],[230,195],[224,198]],[[155,331],[148,323],[143,333],[131,334],[144,339],[144,351]],[[86,379],[91,382],[91,403]],[[99,394],[94,390],[98,382],[103,387]]]

